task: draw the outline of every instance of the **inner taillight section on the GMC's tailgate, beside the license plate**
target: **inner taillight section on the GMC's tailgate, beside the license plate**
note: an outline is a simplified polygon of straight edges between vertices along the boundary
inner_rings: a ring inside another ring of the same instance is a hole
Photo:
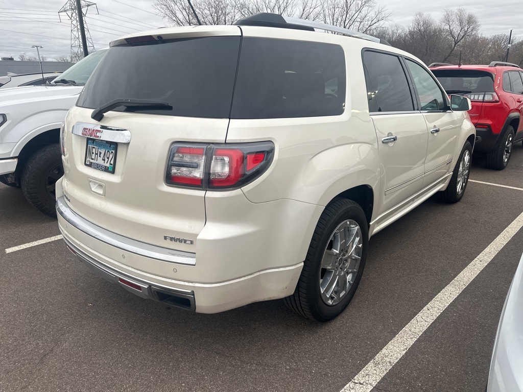
[[[205,166],[205,147],[173,145],[165,181],[170,185],[201,187]]]

